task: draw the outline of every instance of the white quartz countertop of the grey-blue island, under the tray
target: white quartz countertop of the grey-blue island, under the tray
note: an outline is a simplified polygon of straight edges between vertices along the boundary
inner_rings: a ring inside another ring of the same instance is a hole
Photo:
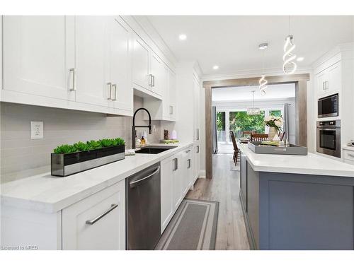
[[[239,143],[238,145],[255,171],[354,177],[354,165],[314,153],[308,153],[308,155],[268,155],[253,153],[247,144]]]

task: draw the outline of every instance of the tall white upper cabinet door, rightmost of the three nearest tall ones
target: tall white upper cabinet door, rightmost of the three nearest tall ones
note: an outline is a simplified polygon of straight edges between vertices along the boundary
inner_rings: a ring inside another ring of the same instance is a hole
[[[110,104],[120,110],[132,110],[131,33],[121,19],[110,20],[110,82],[113,84]]]

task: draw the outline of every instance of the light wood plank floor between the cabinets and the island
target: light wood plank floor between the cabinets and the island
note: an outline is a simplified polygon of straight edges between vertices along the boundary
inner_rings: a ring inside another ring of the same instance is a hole
[[[215,249],[249,249],[239,199],[239,171],[230,170],[230,160],[229,154],[213,155],[213,178],[198,179],[185,197],[219,201]]]

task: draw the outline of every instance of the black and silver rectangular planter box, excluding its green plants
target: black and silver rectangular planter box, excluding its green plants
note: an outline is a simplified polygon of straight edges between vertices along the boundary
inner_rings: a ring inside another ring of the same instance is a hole
[[[110,146],[90,151],[52,153],[52,176],[67,177],[125,158],[125,146]]]

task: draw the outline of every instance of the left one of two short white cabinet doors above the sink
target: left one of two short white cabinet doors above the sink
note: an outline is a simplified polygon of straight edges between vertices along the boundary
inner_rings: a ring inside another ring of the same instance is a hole
[[[135,35],[132,43],[132,81],[149,89],[149,47]]]

